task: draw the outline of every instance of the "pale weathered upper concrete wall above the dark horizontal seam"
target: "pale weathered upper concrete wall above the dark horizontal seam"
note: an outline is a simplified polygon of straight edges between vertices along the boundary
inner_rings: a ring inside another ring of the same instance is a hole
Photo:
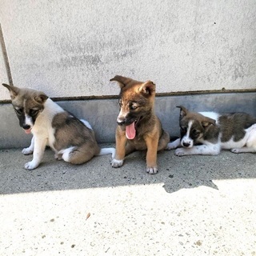
[[[255,0],[0,2],[14,84],[50,97],[118,94],[115,74],[162,93],[255,89],[255,14]]]

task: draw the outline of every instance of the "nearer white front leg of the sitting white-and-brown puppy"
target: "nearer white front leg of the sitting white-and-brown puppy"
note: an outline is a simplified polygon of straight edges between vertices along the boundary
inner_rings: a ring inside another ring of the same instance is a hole
[[[25,164],[26,170],[34,170],[39,166],[46,148],[46,142],[46,138],[34,138],[33,160]]]

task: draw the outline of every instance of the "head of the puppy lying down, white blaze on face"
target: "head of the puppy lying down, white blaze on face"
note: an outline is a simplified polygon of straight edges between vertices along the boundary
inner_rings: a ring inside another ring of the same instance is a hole
[[[215,126],[215,120],[199,113],[190,112],[184,106],[177,107],[181,109],[179,116],[181,145],[190,148],[194,144],[202,142],[201,139],[210,126]]]

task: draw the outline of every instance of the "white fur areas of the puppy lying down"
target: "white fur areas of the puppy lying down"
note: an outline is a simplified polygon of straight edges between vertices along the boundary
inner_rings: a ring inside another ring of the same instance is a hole
[[[215,112],[199,112],[199,113],[208,118],[214,119],[216,121],[216,124],[218,124],[218,118],[221,116],[220,114]],[[192,122],[189,123],[187,133],[182,138],[182,140],[177,139],[174,142],[168,143],[166,149],[171,150],[171,149],[177,148],[178,146],[182,146],[184,142],[190,142],[190,140],[192,140],[191,138],[189,138],[191,126],[192,126]],[[222,134],[219,134],[218,142],[216,144],[202,140],[201,142],[203,145],[192,146],[192,147],[190,146],[180,147],[175,150],[175,155],[177,156],[190,155],[190,154],[216,155],[216,154],[219,154],[222,149],[230,150],[233,153],[247,153],[247,152],[254,153],[256,152],[256,124],[247,128],[245,132],[246,134],[244,138],[242,138],[238,142],[234,142],[233,137],[228,142],[221,142]]]

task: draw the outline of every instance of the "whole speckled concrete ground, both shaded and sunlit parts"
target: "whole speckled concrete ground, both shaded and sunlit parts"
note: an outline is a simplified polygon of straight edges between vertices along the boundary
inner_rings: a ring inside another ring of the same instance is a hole
[[[119,169],[30,158],[0,151],[1,255],[256,255],[255,154],[164,151],[155,175],[142,152]]]

